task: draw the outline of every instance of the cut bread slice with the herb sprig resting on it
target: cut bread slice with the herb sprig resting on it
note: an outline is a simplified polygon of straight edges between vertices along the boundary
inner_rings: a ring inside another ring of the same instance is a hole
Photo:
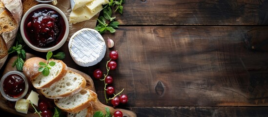
[[[37,89],[50,87],[53,83],[61,80],[67,73],[67,65],[62,60],[49,59],[48,62],[54,61],[55,66],[51,67],[48,76],[40,74],[37,78],[31,80],[33,86]]]

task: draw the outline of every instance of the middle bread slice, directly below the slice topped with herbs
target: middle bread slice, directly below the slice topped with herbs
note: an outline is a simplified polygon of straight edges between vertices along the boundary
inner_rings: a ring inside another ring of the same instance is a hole
[[[66,75],[48,88],[41,89],[46,98],[64,98],[85,88],[86,80],[80,74],[68,70]]]

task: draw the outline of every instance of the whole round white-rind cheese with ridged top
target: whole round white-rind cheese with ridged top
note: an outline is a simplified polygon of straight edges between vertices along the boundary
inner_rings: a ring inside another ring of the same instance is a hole
[[[68,48],[75,63],[83,67],[99,63],[106,52],[102,35],[90,28],[83,28],[72,35]]]

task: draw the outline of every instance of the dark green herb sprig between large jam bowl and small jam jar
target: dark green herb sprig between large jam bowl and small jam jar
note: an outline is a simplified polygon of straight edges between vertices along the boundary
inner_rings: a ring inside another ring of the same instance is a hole
[[[21,39],[21,35],[19,33],[17,33],[16,40],[17,40],[16,45],[11,47],[8,50],[8,54],[11,54],[14,52],[17,53],[18,58],[13,62],[12,67],[14,67],[16,65],[17,70],[22,71],[24,60],[26,59],[26,52],[23,49],[25,44],[23,43],[23,41]]]

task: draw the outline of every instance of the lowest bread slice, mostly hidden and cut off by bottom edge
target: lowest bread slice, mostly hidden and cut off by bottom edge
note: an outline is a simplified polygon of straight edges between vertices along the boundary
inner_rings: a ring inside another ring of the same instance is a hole
[[[67,113],[67,117],[93,117],[93,106],[89,106],[78,113]]]

